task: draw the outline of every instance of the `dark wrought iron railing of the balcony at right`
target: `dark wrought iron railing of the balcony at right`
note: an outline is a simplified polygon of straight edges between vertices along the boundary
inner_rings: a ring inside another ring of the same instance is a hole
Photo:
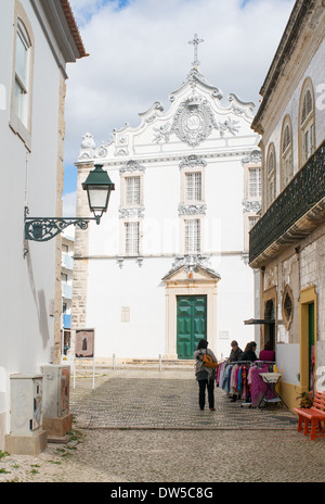
[[[325,197],[325,141],[295,175],[249,234],[249,264]],[[299,232],[297,232],[298,238]]]

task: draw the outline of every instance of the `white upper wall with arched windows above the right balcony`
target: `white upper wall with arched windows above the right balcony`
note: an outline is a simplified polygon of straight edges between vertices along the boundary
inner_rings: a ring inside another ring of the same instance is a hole
[[[324,48],[323,40],[297,83],[270,138],[263,139],[263,211],[308,162],[324,138],[324,89],[321,77]]]

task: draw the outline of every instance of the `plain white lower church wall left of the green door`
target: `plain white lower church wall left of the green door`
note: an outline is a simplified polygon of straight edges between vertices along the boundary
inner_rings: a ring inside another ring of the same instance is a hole
[[[89,264],[87,326],[95,328],[99,357],[158,358],[165,353],[165,282],[167,259],[147,259],[140,267],[126,260]],[[95,293],[95,295],[94,295]],[[121,307],[130,308],[130,322],[121,322]]]

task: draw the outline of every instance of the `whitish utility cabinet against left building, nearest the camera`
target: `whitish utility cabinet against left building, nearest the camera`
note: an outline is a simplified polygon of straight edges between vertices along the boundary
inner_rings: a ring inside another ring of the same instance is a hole
[[[42,380],[41,375],[11,375],[11,434],[42,430]]]

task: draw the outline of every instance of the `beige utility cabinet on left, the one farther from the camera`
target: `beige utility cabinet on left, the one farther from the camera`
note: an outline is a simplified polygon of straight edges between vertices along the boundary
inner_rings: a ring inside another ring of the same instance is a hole
[[[44,364],[43,417],[61,418],[69,412],[70,366]]]

